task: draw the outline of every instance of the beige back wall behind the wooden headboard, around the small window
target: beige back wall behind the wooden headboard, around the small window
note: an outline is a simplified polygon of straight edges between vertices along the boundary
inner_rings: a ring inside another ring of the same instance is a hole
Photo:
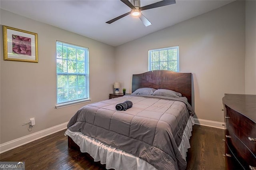
[[[206,14],[116,47],[116,80],[131,92],[132,74],[148,71],[148,49],[180,46],[180,72],[194,78],[196,117],[223,122],[224,93],[245,93],[245,3]]]

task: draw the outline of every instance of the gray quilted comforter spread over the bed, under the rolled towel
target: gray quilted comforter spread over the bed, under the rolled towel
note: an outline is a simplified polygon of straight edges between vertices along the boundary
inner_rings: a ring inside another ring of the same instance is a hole
[[[116,104],[132,108],[116,111]],[[158,170],[184,170],[178,150],[186,123],[194,111],[184,98],[126,95],[82,107],[68,129],[138,156]]]

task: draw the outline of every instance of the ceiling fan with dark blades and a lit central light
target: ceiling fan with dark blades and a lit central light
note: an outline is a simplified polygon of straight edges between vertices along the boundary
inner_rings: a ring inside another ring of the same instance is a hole
[[[109,20],[106,23],[111,24],[112,22],[115,22],[129,14],[132,14],[132,16],[138,16],[145,26],[150,26],[152,23],[141,13],[141,11],[152,9],[152,8],[158,8],[161,6],[176,4],[175,0],[162,0],[159,2],[155,2],[153,4],[140,7],[140,0],[131,0],[131,2],[129,0],[120,0],[120,1],[124,2],[124,4],[129,6],[131,8],[131,11],[125,14],[122,14],[112,20]]]

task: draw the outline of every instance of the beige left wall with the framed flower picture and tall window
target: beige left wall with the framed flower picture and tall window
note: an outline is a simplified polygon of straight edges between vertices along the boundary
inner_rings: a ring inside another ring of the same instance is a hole
[[[38,63],[4,61],[0,40],[0,143],[60,125],[84,104],[54,109],[56,105],[56,40],[89,48],[91,102],[108,99],[115,81],[114,47],[59,28],[0,10],[2,25],[38,34]],[[86,103],[88,104],[88,103]],[[22,126],[29,118],[36,126]]]

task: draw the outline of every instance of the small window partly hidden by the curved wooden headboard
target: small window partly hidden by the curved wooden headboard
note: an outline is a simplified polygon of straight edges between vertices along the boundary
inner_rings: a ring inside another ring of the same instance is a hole
[[[179,72],[179,46],[148,50],[148,71]]]

